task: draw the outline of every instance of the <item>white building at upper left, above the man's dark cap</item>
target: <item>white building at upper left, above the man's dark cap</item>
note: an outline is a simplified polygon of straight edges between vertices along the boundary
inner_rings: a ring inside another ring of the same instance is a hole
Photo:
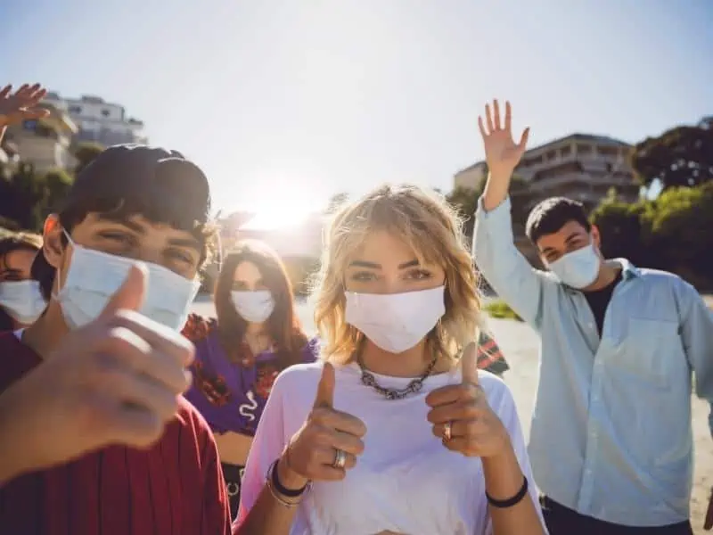
[[[143,122],[128,117],[124,106],[107,103],[98,96],[62,98],[58,93],[48,93],[45,102],[66,111],[78,124],[76,141],[103,145],[146,143]]]

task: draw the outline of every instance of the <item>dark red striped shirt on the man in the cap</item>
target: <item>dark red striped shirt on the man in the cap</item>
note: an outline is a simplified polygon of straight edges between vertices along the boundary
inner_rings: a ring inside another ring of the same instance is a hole
[[[0,392],[41,360],[0,334]],[[51,440],[51,437],[50,437]],[[227,535],[230,507],[208,424],[181,399],[148,450],[112,446],[0,487],[0,532],[17,535]]]

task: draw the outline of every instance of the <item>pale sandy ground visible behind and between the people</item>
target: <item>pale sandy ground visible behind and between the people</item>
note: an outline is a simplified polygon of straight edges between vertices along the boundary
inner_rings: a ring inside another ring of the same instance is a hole
[[[209,300],[196,302],[193,309],[202,315],[215,315]],[[307,303],[299,305],[299,316],[303,325],[312,325],[311,309]],[[504,351],[511,369],[504,375],[515,398],[520,413],[520,421],[526,438],[529,436],[530,416],[537,391],[538,364],[537,334],[525,324],[506,319],[488,320],[488,326]],[[693,403],[693,440],[695,441],[695,476],[691,514],[693,532],[702,535],[703,519],[708,506],[710,489],[713,486],[713,440],[708,427],[709,406],[696,397]]]

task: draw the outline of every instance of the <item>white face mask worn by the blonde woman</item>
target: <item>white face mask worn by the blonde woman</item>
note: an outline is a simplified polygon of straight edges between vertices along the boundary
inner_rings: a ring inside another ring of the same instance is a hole
[[[445,286],[406,293],[347,292],[346,319],[389,353],[403,353],[421,342],[446,314]]]

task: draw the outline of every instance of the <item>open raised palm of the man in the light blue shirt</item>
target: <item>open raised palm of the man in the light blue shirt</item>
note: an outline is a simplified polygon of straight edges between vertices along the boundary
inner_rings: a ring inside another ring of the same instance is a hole
[[[500,119],[500,106],[493,101],[492,112],[490,104],[485,105],[486,124],[483,118],[478,118],[480,135],[483,136],[485,157],[491,174],[510,176],[512,170],[520,163],[525,147],[528,144],[529,128],[525,128],[520,136],[520,143],[512,139],[512,111],[509,102],[505,102],[504,122]]]

